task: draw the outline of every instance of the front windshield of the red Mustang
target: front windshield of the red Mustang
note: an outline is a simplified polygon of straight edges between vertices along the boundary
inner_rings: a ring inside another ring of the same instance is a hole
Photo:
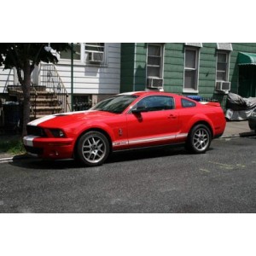
[[[108,111],[111,113],[122,113],[137,96],[120,95],[109,98],[105,101],[97,103],[91,110]]]

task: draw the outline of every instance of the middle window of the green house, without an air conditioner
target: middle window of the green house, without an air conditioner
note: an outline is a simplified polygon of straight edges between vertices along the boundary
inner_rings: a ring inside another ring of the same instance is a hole
[[[184,90],[198,90],[199,49],[185,49]]]

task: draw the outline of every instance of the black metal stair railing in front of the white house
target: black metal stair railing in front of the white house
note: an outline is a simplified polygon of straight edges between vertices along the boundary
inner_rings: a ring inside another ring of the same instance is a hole
[[[61,80],[61,76],[53,64],[41,64],[39,69],[40,85],[46,90],[54,93],[59,101],[63,112],[71,111],[71,106],[68,102],[68,93]]]

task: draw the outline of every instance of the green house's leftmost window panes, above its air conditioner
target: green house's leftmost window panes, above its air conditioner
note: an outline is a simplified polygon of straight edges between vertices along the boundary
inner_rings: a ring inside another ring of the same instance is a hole
[[[162,77],[162,46],[160,44],[148,44],[147,77]]]

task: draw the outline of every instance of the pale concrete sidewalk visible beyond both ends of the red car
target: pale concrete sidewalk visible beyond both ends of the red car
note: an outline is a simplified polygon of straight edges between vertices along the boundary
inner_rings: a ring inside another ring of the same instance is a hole
[[[252,136],[254,131],[251,131],[248,126],[248,121],[229,121],[227,122],[224,134],[220,138],[230,138],[230,137],[247,137]],[[26,154],[12,155],[0,152],[0,164],[11,162],[15,159],[24,159],[28,157]]]

